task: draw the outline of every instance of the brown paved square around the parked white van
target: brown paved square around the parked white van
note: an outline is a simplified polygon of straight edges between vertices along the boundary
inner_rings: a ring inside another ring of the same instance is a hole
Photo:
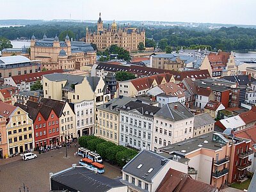
[[[49,173],[56,173],[69,168],[72,164],[78,164],[80,156],[74,156],[77,147],[68,148],[68,156],[65,159],[65,148],[52,150],[38,155],[36,159],[22,161],[21,157],[0,159],[0,191],[19,191],[25,184],[29,191],[49,191]],[[2,161],[3,160],[3,161]],[[2,161],[2,162],[1,162]],[[115,179],[122,175],[120,168],[104,162],[106,177]]]

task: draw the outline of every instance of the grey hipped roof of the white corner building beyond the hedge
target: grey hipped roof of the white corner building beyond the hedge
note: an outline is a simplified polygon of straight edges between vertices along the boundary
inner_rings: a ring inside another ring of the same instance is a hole
[[[177,107],[177,109],[175,109]],[[180,102],[172,102],[163,106],[159,111],[157,111],[155,116],[160,116],[162,118],[167,118],[173,122],[191,118],[194,115],[185,108]]]

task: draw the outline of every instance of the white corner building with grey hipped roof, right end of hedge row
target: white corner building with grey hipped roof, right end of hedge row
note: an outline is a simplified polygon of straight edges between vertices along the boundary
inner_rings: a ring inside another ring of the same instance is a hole
[[[195,116],[180,102],[166,104],[154,115],[153,146],[171,145],[193,137]]]

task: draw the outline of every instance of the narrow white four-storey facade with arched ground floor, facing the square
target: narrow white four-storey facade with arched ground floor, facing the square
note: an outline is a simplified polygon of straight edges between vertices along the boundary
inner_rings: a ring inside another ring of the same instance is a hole
[[[93,100],[74,103],[74,111],[76,113],[77,137],[94,134]]]

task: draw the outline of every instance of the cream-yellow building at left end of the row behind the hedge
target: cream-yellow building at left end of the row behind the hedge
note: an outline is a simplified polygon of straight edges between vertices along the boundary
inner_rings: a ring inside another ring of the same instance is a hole
[[[111,141],[116,145],[119,144],[119,108],[124,106],[132,99],[131,97],[115,98],[97,106],[97,124],[95,127],[95,136],[104,140]]]

